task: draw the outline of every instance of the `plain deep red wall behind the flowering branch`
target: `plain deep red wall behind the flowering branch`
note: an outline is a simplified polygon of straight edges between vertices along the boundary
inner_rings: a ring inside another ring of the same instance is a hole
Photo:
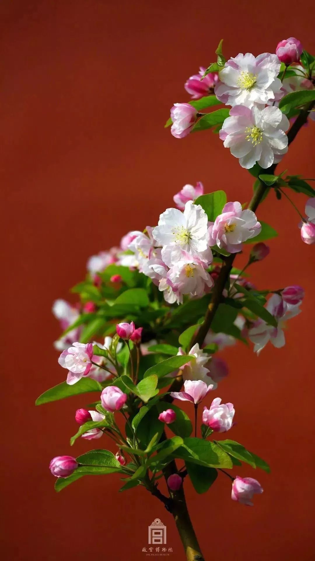
[[[156,224],[185,183],[249,200],[251,177],[218,136],[177,140],[163,125],[172,104],[188,100],[184,81],[213,61],[221,37],[234,56],[275,52],[290,35],[314,52],[311,5],[306,0],[301,13],[296,2],[270,0],[1,2],[5,559],[138,561],[156,517],[168,527],[170,559],[183,559],[172,517],[145,490],[118,494],[118,477],[106,476],[55,493],[48,464],[73,453],[73,416],[86,399],[34,406],[64,379],[50,308],[68,298],[88,256],[129,229]],[[314,175],[313,135],[311,123],[281,171]],[[294,200],[304,211],[305,197]],[[224,476],[206,495],[185,485],[206,559],[306,561],[313,545],[314,247],[300,241],[288,201],[270,196],[258,218],[280,236],[268,260],[253,267],[254,280],[260,288],[302,284],[303,312],[284,348],[268,346],[259,358],[242,344],[226,351],[230,376],[219,395],[237,411],[230,438],[265,458],[272,473],[238,471],[265,488],[254,508],[231,501]],[[77,442],[74,453],[87,447],[94,445]]]

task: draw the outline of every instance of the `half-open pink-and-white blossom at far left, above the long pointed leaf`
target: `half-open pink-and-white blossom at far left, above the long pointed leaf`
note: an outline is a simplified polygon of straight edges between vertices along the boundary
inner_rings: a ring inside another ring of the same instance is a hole
[[[58,358],[59,364],[69,370],[67,384],[75,384],[82,376],[87,376],[92,366],[92,343],[73,343]]]

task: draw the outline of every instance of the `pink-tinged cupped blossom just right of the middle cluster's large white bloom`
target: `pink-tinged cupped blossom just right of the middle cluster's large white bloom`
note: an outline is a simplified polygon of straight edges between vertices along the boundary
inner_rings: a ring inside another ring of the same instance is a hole
[[[215,222],[209,222],[209,245],[215,244],[230,253],[242,250],[242,242],[257,236],[261,224],[252,210],[242,210],[242,205],[226,203]]]

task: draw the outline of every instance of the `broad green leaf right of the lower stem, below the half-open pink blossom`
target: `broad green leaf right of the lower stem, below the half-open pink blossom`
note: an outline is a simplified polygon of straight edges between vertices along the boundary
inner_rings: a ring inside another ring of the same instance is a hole
[[[184,445],[174,452],[175,458],[207,467],[231,468],[233,462],[229,454],[214,442],[201,438],[184,438]]]

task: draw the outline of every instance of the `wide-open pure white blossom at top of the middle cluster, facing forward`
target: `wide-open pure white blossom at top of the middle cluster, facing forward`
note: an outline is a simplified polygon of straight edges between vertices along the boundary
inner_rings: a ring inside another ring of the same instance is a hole
[[[210,264],[212,253],[207,245],[207,224],[205,211],[192,201],[186,203],[183,213],[169,208],[160,214],[158,226],[152,234],[162,246],[161,258],[164,263],[169,267],[176,265],[183,259],[184,252]]]

